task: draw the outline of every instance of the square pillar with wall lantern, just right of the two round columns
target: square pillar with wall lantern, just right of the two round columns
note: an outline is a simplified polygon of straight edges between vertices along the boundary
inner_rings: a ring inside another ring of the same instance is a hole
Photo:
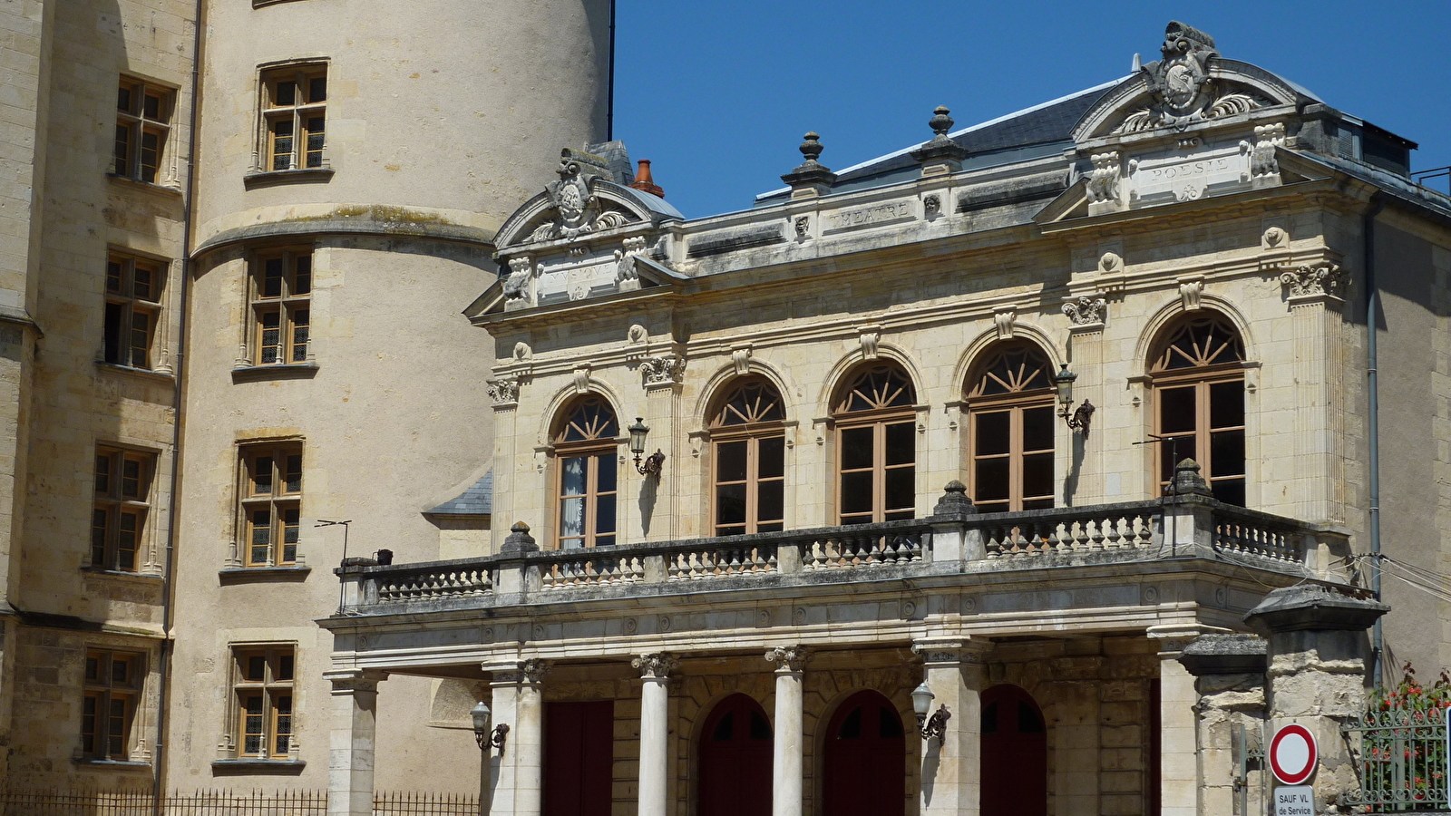
[[[949,714],[942,739],[921,743],[920,816],[977,816],[982,801],[982,659],[992,643],[969,637],[924,637],[923,656],[932,713]],[[913,739],[908,736],[908,739]],[[921,739],[921,736],[917,736]]]

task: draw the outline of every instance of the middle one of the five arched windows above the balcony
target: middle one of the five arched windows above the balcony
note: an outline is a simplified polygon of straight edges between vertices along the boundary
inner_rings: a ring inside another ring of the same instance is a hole
[[[837,520],[911,518],[917,502],[917,395],[900,366],[858,369],[831,412],[837,443]]]

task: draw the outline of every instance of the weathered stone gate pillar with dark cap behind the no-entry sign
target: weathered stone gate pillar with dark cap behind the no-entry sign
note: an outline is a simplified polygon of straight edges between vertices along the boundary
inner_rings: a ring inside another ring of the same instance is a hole
[[[1273,589],[1245,614],[1270,639],[1270,735],[1299,723],[1315,735],[1320,762],[1310,784],[1322,812],[1358,790],[1354,758],[1341,738],[1341,723],[1365,711],[1368,678],[1365,630],[1390,607],[1322,584]]]

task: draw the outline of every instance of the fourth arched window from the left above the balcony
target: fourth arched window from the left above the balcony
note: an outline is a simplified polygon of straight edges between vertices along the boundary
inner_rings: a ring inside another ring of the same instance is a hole
[[[1010,343],[968,380],[968,482],[981,511],[1053,507],[1052,378],[1042,348]]]

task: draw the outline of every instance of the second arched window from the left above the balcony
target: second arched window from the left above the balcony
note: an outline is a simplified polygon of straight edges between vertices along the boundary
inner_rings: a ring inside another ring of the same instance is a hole
[[[786,434],[781,392],[750,378],[712,412],[715,534],[772,533],[785,520]]]

